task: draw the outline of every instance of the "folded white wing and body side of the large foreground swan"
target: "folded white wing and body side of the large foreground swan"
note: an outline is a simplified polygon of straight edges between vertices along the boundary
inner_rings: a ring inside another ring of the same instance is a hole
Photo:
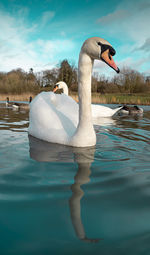
[[[65,112],[59,110],[61,102],[57,96],[42,92],[31,102],[29,134],[42,140],[63,144],[73,135],[76,126]]]

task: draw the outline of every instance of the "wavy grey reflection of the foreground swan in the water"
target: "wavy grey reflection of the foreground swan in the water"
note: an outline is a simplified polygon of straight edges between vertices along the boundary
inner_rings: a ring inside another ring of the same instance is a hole
[[[94,160],[95,147],[75,148],[52,144],[29,135],[30,157],[40,162],[76,162],[78,170],[71,185],[72,196],[69,200],[72,225],[77,237],[85,242],[99,242],[100,238],[88,238],[81,219],[80,200],[84,196],[81,185],[90,181],[91,163]]]

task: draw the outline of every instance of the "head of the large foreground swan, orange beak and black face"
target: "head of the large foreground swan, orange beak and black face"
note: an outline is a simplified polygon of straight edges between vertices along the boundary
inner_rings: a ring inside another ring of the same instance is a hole
[[[88,54],[93,60],[102,60],[117,73],[120,72],[112,58],[116,54],[116,51],[108,41],[100,37],[91,37],[84,42],[82,52]]]

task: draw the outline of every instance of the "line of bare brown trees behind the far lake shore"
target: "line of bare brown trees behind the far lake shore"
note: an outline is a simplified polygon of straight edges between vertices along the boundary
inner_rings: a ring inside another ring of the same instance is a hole
[[[29,72],[22,69],[10,72],[0,72],[0,93],[1,94],[21,94],[26,92],[39,93],[42,90],[52,90],[58,81],[67,83],[70,92],[77,92],[77,68],[68,60],[63,60],[55,68],[34,72],[30,68]],[[108,79],[105,75],[93,73],[92,92],[101,94],[109,93],[149,93],[150,76],[143,74],[129,67],[121,70],[121,73]]]

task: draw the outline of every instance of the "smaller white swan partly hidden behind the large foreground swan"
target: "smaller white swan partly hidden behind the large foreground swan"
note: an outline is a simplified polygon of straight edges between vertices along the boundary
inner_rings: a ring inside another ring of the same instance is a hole
[[[68,86],[64,81],[57,82],[54,86],[53,92],[56,92],[59,89],[62,89],[63,93],[68,96]],[[110,107],[107,107],[107,106],[91,104],[92,117],[93,118],[112,117],[114,114],[120,111],[122,107],[123,106],[117,107],[115,109],[111,109]],[[78,114],[78,112],[74,112],[73,114]]]

